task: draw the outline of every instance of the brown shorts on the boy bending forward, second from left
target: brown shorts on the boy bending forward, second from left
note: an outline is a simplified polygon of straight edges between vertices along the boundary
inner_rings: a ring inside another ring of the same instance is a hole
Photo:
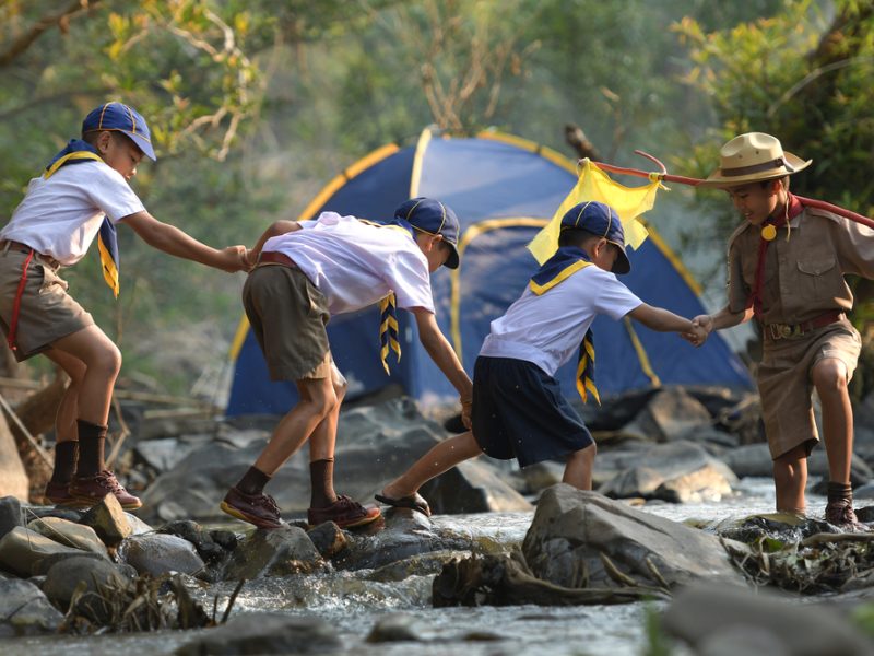
[[[243,306],[272,380],[330,376],[336,382],[340,372],[324,329],[328,301],[303,271],[259,265],[246,279]]]

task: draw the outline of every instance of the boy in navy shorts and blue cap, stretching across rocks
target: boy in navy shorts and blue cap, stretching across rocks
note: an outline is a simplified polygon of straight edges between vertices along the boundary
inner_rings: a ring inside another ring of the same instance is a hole
[[[521,467],[564,459],[564,482],[591,490],[594,441],[565,399],[556,370],[577,354],[577,390],[583,400],[598,399],[590,326],[599,314],[616,320],[628,315],[660,331],[693,329],[688,319],[647,305],[616,279],[629,270],[613,208],[582,202],[568,210],[555,255],[507,314],[492,321],[474,365],[472,432],[436,445],[376,499],[430,514],[418,489],[482,453],[516,458]]]

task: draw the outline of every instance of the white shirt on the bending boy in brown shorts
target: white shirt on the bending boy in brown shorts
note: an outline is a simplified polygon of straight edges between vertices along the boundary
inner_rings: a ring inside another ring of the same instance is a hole
[[[403,229],[379,227],[323,212],[262,250],[294,260],[328,300],[331,314],[354,312],[394,292],[398,307],[434,313],[428,260]]]

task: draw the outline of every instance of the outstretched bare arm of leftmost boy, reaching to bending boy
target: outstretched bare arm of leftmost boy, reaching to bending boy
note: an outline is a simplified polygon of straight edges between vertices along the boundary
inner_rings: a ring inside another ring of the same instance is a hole
[[[217,250],[198,242],[175,225],[162,223],[145,210],[125,216],[121,222],[132,227],[143,242],[168,255],[232,273],[249,268],[245,246],[228,246]]]

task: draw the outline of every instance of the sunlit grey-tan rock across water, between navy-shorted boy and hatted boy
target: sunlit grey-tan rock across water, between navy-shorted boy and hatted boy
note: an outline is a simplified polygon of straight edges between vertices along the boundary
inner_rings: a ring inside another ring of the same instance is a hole
[[[693,442],[654,445],[640,454],[637,462],[606,481],[599,492],[613,499],[718,501],[737,482],[731,469]]]

